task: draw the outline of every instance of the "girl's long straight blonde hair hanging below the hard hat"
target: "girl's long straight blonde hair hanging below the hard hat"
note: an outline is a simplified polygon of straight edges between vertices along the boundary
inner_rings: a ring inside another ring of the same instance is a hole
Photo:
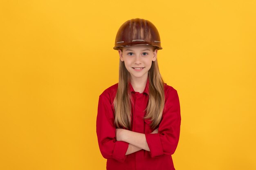
[[[122,50],[122,49],[121,49]],[[164,81],[159,72],[157,59],[153,62],[148,71],[149,78],[149,100],[144,111],[144,119],[150,119],[150,127],[155,129],[161,121],[164,110]],[[128,83],[130,82],[130,73],[125,67],[124,62],[119,60],[119,82],[117,93],[114,99],[115,126],[124,127],[131,130],[131,93]]]

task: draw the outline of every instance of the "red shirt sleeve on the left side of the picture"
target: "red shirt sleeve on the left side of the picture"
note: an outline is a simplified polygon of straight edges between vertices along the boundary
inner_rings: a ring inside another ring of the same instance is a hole
[[[101,155],[105,159],[116,159],[124,162],[129,143],[116,140],[116,127],[114,125],[114,113],[109,97],[99,96],[96,132]]]

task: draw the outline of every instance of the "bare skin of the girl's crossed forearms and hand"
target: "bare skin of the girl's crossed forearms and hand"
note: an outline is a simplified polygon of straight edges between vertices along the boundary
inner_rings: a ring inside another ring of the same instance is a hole
[[[151,133],[158,133],[158,128]],[[125,141],[129,143],[126,155],[129,155],[133,152],[137,152],[141,149],[150,151],[144,133],[133,132],[126,129],[117,128],[116,138],[117,141]]]

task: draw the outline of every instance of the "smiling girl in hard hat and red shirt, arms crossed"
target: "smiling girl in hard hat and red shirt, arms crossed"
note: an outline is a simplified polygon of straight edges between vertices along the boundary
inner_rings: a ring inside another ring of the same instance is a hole
[[[107,170],[175,170],[171,155],[180,137],[177,91],[157,64],[159,33],[148,20],[121,25],[115,40],[119,82],[99,96],[96,131]]]

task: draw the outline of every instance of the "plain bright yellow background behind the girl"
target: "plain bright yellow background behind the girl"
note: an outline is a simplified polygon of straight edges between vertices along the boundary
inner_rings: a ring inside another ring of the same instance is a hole
[[[104,170],[99,95],[132,18],[157,27],[164,81],[179,94],[176,170],[256,169],[254,0],[1,0],[0,169]]]

